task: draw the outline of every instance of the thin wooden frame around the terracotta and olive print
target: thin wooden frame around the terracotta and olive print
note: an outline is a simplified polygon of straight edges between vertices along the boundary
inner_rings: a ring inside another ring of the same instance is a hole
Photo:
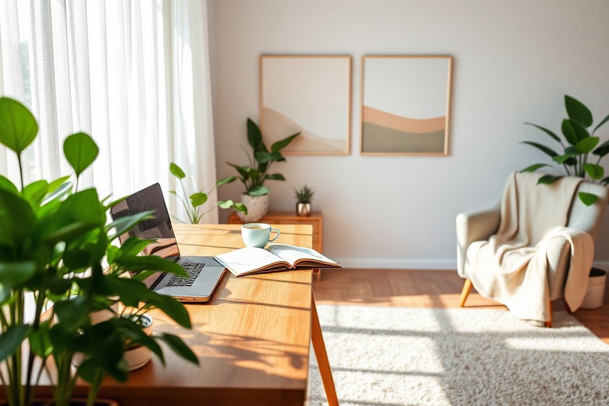
[[[446,58],[448,59],[448,78],[446,87],[446,119],[443,152],[364,152],[364,66],[367,59],[373,58]],[[450,134],[450,107],[451,107],[451,82],[452,82],[452,56],[451,55],[364,55],[361,65],[361,89],[360,89],[360,131],[359,131],[359,154],[365,156],[448,156],[448,140]]]

